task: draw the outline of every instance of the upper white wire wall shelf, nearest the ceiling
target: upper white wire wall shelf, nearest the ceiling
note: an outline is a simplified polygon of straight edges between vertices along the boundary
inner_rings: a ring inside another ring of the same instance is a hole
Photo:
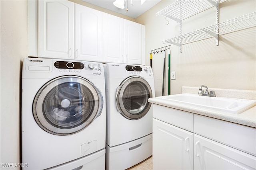
[[[177,0],[156,13],[180,22],[226,0]]]

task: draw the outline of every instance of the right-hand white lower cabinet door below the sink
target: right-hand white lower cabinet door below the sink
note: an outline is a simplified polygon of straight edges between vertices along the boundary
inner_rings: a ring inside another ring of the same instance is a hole
[[[194,169],[256,169],[256,157],[194,134]]]

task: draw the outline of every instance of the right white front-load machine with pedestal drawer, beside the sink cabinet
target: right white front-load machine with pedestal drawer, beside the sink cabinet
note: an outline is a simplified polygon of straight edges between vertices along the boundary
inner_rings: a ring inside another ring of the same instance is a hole
[[[150,66],[104,64],[106,169],[126,169],[152,155],[154,78]]]

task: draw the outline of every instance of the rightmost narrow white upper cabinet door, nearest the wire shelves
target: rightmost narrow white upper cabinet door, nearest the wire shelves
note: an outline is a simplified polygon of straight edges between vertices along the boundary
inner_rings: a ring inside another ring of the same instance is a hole
[[[142,64],[142,25],[124,20],[124,63]]]

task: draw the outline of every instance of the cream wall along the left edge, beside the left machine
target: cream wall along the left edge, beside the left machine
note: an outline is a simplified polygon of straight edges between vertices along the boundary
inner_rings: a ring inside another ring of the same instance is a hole
[[[0,169],[20,163],[20,85],[22,59],[28,56],[26,0],[0,0]]]

